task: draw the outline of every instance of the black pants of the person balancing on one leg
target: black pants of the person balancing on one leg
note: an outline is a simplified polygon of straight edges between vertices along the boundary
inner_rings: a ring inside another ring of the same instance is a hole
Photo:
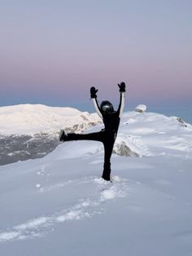
[[[103,175],[102,178],[106,180],[110,180],[111,174],[111,153],[113,149],[113,145],[116,140],[116,132],[114,130],[101,130],[99,132],[94,132],[86,135],[78,135],[78,134],[68,134],[65,137],[64,141],[70,140],[96,140],[103,143],[104,146],[104,166],[103,166]]]

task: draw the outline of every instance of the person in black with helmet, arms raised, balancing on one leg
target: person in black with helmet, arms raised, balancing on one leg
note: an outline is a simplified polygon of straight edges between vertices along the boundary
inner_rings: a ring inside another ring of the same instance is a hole
[[[67,134],[65,130],[60,130],[59,134],[59,140],[61,142],[72,140],[94,140],[102,142],[104,146],[104,165],[102,178],[107,181],[111,180],[111,154],[120,126],[120,115],[123,113],[124,109],[125,83],[120,82],[118,86],[120,91],[120,104],[117,111],[114,110],[113,105],[108,100],[104,100],[99,106],[97,100],[98,90],[96,90],[94,86],[90,88],[90,97],[93,100],[94,108],[96,109],[98,116],[103,119],[104,129],[89,134]]]

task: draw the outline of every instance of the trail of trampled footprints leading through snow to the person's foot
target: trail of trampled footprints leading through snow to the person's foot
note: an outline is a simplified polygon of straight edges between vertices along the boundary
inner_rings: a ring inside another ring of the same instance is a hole
[[[50,216],[40,216],[21,223],[7,231],[0,231],[0,242],[25,240],[34,237],[44,236],[46,232],[54,230],[57,223],[66,221],[91,218],[95,214],[103,212],[103,203],[112,201],[114,198],[124,197],[128,193],[129,184],[125,179],[114,176],[111,182],[103,179],[87,179],[89,183],[96,183],[96,198],[86,197],[79,200],[69,209],[63,209]]]

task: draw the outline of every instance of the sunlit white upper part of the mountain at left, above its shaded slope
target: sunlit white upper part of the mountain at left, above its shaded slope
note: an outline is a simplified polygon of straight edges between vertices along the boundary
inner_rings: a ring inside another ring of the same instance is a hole
[[[61,128],[81,132],[101,122],[96,113],[76,108],[56,108],[41,104],[21,104],[0,108],[0,135],[57,133]]]

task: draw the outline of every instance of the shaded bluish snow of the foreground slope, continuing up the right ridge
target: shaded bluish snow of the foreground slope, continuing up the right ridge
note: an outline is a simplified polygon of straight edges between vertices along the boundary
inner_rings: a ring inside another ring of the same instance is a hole
[[[103,145],[91,141],[61,143],[44,158],[1,166],[1,255],[191,256],[186,125],[157,113],[124,113],[112,183],[99,178]]]

